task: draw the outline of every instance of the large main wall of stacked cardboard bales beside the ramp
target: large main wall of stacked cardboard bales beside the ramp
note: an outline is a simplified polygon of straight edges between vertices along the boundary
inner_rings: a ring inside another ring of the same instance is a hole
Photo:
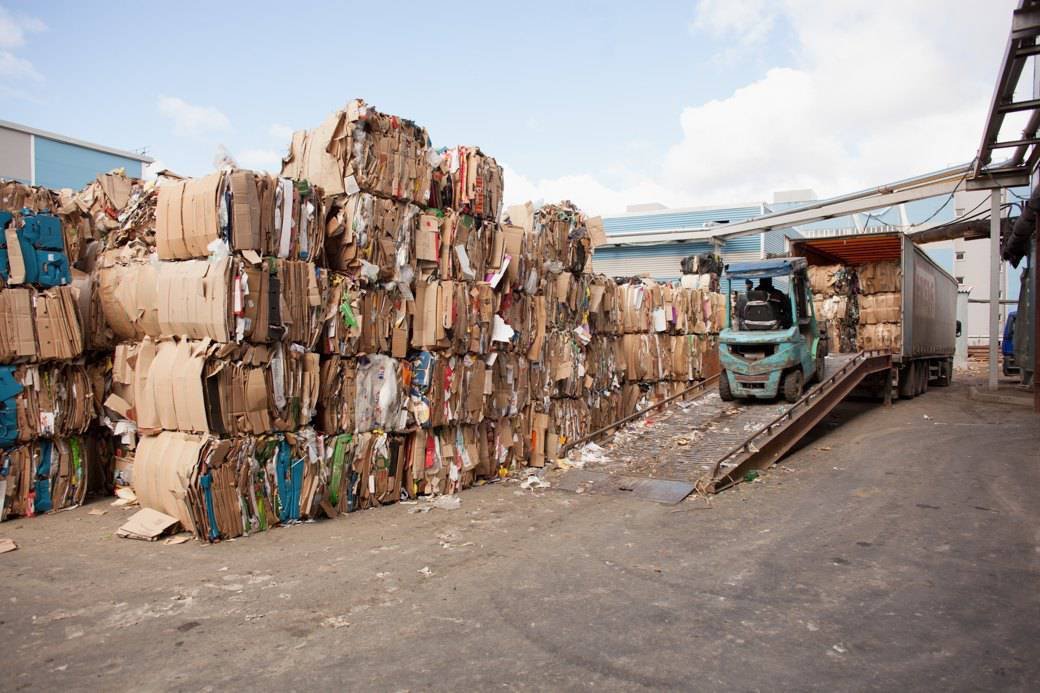
[[[721,297],[636,282],[626,328],[634,284],[589,271],[598,219],[500,221],[493,158],[361,101],[296,133],[282,177],[105,175],[47,199],[93,270],[77,303],[109,478],[203,539],[541,466],[712,371]]]

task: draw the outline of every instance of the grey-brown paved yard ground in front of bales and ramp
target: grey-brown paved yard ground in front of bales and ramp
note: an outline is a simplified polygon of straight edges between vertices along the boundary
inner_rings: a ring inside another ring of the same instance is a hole
[[[0,687],[1036,690],[1040,419],[966,392],[843,404],[710,504],[513,482],[214,546],[118,539],[108,499],[14,520]]]

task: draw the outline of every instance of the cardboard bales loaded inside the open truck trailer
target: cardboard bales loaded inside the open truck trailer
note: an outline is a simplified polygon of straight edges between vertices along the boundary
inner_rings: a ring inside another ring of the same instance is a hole
[[[809,267],[816,318],[825,323],[829,350],[902,348],[902,271],[899,261]]]

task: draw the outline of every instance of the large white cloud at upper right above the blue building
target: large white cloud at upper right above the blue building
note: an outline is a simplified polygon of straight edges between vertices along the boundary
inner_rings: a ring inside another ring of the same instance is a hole
[[[683,108],[681,137],[662,159],[633,160],[648,177],[612,186],[607,170],[553,180],[508,173],[508,185],[602,212],[768,201],[786,188],[838,195],[968,161],[1014,2],[952,4],[704,0],[694,28],[709,35],[700,40],[761,56],[769,30],[782,24],[794,57],[726,98]]]

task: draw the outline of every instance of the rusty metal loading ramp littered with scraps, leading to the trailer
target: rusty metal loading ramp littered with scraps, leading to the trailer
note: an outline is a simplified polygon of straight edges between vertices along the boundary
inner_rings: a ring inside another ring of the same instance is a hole
[[[615,442],[606,460],[569,471],[556,486],[658,503],[718,493],[776,463],[864,379],[891,369],[888,352],[830,355],[823,380],[795,404],[723,402],[705,383],[691,388],[690,399],[675,397],[667,409],[644,410],[569,445],[609,434]],[[886,403],[891,381],[882,377]],[[621,428],[631,421],[638,424]]]

